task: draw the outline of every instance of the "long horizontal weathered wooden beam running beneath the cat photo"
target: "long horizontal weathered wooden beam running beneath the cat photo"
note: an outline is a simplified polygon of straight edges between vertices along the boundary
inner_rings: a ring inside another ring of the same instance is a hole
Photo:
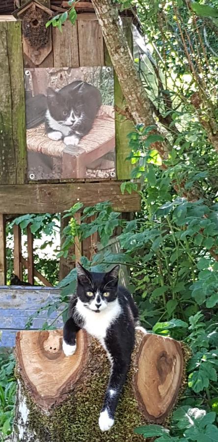
[[[0,186],[0,210],[2,213],[57,213],[69,209],[78,201],[93,206],[111,201],[119,212],[140,210],[140,196],[120,191],[119,182],[26,184]]]

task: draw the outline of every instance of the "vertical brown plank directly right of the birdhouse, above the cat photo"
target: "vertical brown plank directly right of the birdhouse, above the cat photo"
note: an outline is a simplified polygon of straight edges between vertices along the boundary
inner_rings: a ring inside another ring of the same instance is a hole
[[[78,67],[79,66],[79,46],[77,23],[72,24],[67,21],[63,26],[63,32],[53,28],[53,54],[54,67]]]

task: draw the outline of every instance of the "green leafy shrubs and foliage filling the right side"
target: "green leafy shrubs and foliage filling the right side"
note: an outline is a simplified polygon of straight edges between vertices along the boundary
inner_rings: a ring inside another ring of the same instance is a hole
[[[69,14],[59,14],[50,24],[61,29],[68,18],[75,23],[74,3],[69,1]],[[169,428],[146,425],[136,433],[156,437],[159,442],[217,442],[218,0],[113,3],[123,10],[132,8],[144,37],[146,50],[135,56],[135,64],[163,138],[143,124],[129,134],[127,161],[133,165],[132,181],[122,183],[121,191],[140,193],[141,211],[134,219],[121,218],[109,201],[88,208],[77,203],[64,215],[69,223],[57,257],[68,256],[75,238],[82,241],[98,232],[101,247],[91,261],[82,256],[82,265],[92,271],[105,271],[116,263],[125,265],[142,325],[191,348],[187,388]],[[165,160],[153,144],[163,139],[169,148]],[[78,210],[82,210],[81,224],[74,217]],[[23,222],[23,228],[31,222],[38,234],[53,228],[48,214],[27,217],[14,222]],[[108,247],[114,235],[118,253]],[[48,279],[53,273],[52,267],[47,269]],[[48,316],[62,305],[65,320],[76,280],[73,269],[59,283],[61,297],[47,306]],[[27,327],[30,325],[31,319]],[[44,325],[54,327],[55,323]],[[12,381],[8,388],[13,390],[13,385]],[[10,432],[13,394],[3,387],[2,435]]]

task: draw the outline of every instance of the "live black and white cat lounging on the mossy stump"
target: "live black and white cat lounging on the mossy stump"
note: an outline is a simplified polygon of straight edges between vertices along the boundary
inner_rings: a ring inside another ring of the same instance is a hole
[[[135,343],[138,309],[132,295],[118,285],[119,266],[108,273],[90,273],[78,264],[78,283],[70,303],[70,318],[64,325],[63,351],[71,356],[76,350],[76,333],[86,330],[105,348],[111,363],[110,378],[99,426],[107,431],[130,366]]]

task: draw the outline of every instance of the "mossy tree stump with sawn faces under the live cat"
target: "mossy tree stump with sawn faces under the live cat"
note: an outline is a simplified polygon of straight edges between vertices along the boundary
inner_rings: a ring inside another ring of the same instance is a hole
[[[166,422],[184,387],[188,353],[173,339],[137,330],[114,426],[102,433],[98,416],[109,361],[98,341],[79,331],[76,353],[67,358],[62,352],[62,331],[18,332],[12,442],[144,441],[134,428]]]

